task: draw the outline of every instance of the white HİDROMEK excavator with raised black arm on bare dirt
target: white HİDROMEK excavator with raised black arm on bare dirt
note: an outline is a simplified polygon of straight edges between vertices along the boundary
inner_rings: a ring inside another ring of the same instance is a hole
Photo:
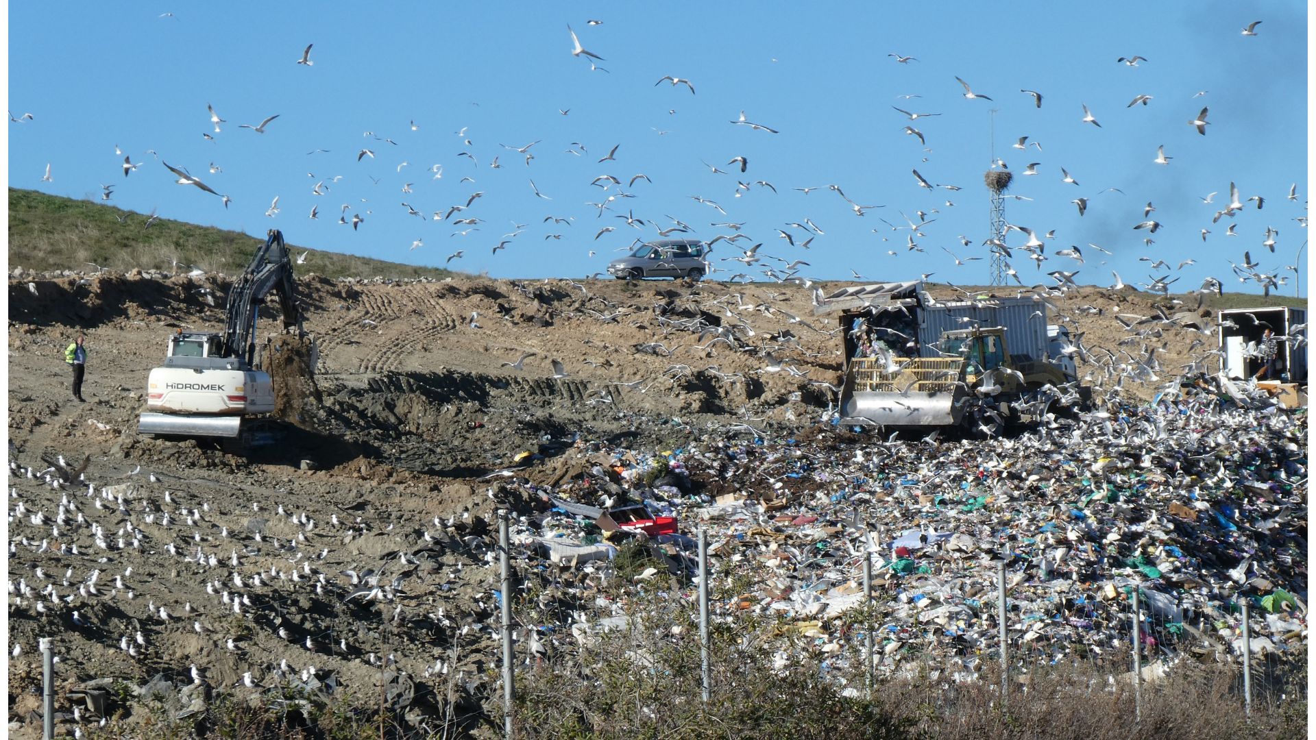
[[[168,338],[164,363],[147,378],[139,433],[218,438],[240,449],[258,441],[253,421],[275,410],[274,383],[255,357],[257,319],[270,291],[279,295],[283,332],[296,329],[304,340],[292,261],[278,229],[270,229],[233,283],[224,332],[179,329]],[[313,345],[309,367],[315,369]]]

